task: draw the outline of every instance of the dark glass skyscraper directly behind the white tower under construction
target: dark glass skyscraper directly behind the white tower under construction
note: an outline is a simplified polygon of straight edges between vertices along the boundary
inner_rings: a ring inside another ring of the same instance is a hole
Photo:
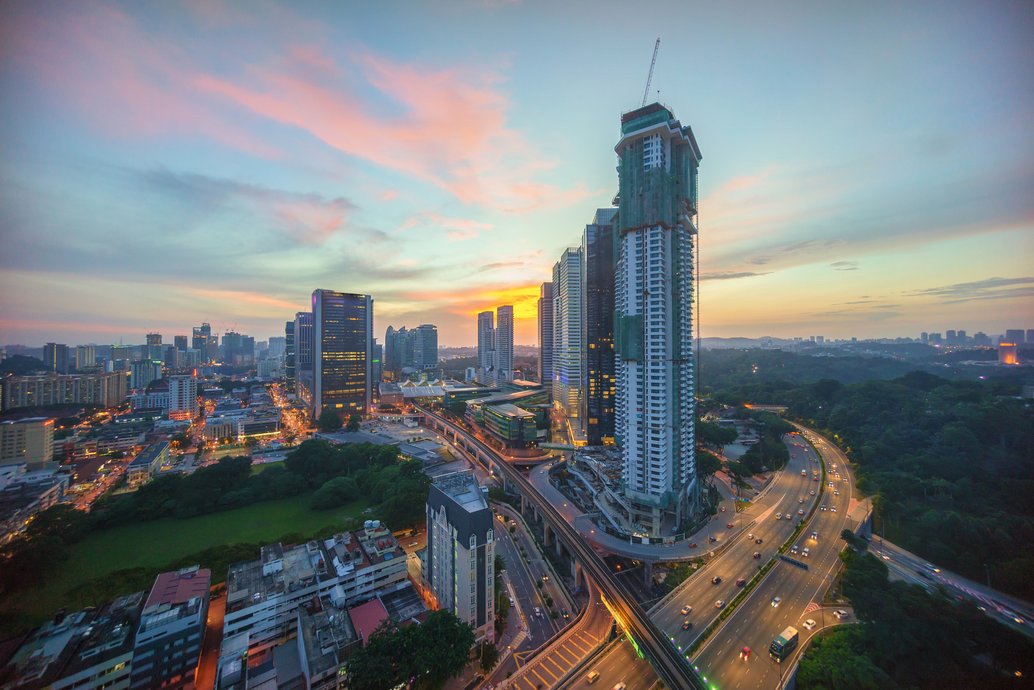
[[[614,443],[614,226],[598,209],[582,235],[582,413],[589,446]]]

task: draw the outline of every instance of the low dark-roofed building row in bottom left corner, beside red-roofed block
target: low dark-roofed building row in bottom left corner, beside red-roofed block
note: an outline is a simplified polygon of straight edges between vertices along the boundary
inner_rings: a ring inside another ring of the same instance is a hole
[[[3,669],[4,690],[126,690],[144,593],[53,619],[25,637]]]

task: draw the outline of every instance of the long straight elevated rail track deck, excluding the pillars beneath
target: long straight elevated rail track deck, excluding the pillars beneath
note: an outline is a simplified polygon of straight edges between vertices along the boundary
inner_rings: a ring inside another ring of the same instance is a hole
[[[473,437],[473,434],[467,434],[465,429],[431,411],[420,406],[416,407],[425,415],[425,418],[433,419],[435,422],[448,426],[454,432],[464,433],[467,438]],[[535,503],[549,519],[557,536],[562,539],[565,545],[571,549],[573,556],[581,564],[584,574],[600,588],[604,602],[610,608],[620,628],[636,639],[643,653],[650,658],[655,670],[664,682],[671,688],[700,688],[702,690],[705,687],[703,682],[689,666],[686,658],[670,644],[664,633],[653,625],[645,611],[636,603],[635,598],[614,578],[607,565],[597,556],[596,550],[586,544],[549,502],[495,450],[478,439],[474,439],[474,443],[482,453],[496,458],[496,464],[506,476],[507,481],[518,487],[521,493]]]

